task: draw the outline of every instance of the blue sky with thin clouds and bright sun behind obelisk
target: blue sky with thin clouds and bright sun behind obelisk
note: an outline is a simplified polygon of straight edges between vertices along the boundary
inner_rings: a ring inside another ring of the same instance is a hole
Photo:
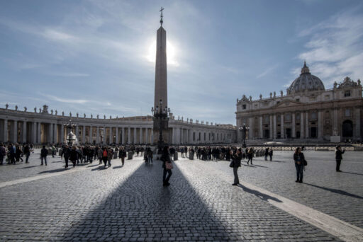
[[[363,78],[363,2],[0,1],[0,106],[151,115],[167,31],[175,117],[235,125],[236,100],[286,93],[306,60],[325,88]]]

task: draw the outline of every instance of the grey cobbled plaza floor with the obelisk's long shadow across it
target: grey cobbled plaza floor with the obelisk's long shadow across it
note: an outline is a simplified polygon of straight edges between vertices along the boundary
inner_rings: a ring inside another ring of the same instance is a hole
[[[303,183],[292,155],[242,160],[232,186],[228,161],[179,154],[163,187],[161,161],[65,171],[35,153],[0,166],[0,241],[363,241],[363,152],[347,151],[337,173],[333,151],[306,151]]]

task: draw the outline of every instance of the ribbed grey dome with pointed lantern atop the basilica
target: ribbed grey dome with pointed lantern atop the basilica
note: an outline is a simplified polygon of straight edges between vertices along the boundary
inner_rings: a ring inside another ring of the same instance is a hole
[[[309,68],[306,66],[306,62],[303,63],[301,68],[301,74],[296,78],[291,86],[287,89],[288,94],[294,94],[303,91],[318,91],[325,90],[323,81],[317,76],[310,73]]]

